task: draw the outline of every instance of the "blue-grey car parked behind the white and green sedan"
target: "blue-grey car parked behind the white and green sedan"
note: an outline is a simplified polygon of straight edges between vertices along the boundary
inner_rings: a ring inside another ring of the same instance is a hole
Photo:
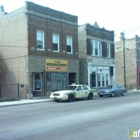
[[[117,85],[117,84],[109,85],[106,88],[98,90],[98,95],[100,97],[103,97],[103,96],[112,96],[112,97],[114,97],[115,95],[119,95],[119,94],[124,96],[125,93],[126,93],[126,89],[123,86]]]

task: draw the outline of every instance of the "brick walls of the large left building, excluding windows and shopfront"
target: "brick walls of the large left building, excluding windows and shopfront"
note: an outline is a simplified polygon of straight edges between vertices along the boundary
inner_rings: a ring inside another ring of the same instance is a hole
[[[43,72],[44,61],[48,57],[69,60],[69,71],[77,73],[79,83],[77,19],[77,16],[32,2],[25,2],[24,7],[0,17],[0,52],[5,67],[0,73],[0,83],[19,83],[19,91],[26,98],[27,93],[32,92],[32,72]],[[44,51],[36,49],[37,30],[45,33]],[[53,33],[60,37],[58,53],[52,52]],[[72,36],[73,54],[66,53],[66,36]],[[31,61],[32,56],[39,59]]]

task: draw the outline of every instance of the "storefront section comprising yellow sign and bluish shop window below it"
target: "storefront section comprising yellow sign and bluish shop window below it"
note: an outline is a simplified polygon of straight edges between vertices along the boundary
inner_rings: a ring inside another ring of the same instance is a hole
[[[67,60],[46,59],[46,91],[61,90],[67,86]]]

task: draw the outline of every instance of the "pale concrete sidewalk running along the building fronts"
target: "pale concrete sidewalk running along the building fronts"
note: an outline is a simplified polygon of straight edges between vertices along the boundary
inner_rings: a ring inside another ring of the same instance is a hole
[[[133,93],[140,93],[140,90],[132,90],[127,92],[127,94],[133,94]],[[52,99],[49,99],[49,97],[43,97],[43,98],[34,97],[33,99],[21,99],[19,101],[5,101],[5,102],[0,102],[0,108],[7,107],[7,106],[48,102],[48,101],[52,101]]]

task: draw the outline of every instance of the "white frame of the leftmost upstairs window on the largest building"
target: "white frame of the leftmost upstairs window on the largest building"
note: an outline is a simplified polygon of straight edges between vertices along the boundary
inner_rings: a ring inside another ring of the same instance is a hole
[[[39,39],[39,33],[41,33],[41,38],[42,39]],[[42,30],[37,30],[36,31],[36,41],[37,41],[37,50],[44,50],[44,46],[45,46],[45,43],[44,43],[44,31],[42,31]],[[42,42],[42,48],[39,48],[38,47],[38,41],[41,41]]]

